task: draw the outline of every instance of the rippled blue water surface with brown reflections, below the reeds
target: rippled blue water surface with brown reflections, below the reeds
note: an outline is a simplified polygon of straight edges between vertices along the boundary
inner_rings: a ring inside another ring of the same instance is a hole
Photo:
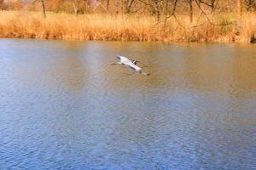
[[[2,39],[0,168],[253,169],[255,76],[255,45]]]

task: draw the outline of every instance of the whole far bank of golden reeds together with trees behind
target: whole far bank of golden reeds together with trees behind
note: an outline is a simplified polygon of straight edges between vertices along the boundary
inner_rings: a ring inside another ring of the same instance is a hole
[[[0,37],[162,42],[253,42],[256,38],[253,0],[17,2],[19,10],[0,11]]]

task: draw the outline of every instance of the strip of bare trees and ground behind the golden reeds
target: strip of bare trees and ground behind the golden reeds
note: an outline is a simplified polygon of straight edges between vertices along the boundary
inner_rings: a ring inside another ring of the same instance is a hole
[[[55,13],[152,14],[160,18],[173,13],[192,15],[201,12],[253,12],[256,0],[0,0],[5,10],[40,10]]]

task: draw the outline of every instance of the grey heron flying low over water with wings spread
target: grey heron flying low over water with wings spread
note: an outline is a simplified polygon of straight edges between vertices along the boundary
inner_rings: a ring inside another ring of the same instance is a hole
[[[137,66],[137,63],[138,63],[137,60],[128,59],[121,55],[117,55],[116,58],[119,59],[119,62],[113,63],[112,65],[125,65],[126,67],[132,69],[133,71],[136,71],[139,74],[143,74],[145,76],[150,75],[150,74],[144,72],[141,67]]]

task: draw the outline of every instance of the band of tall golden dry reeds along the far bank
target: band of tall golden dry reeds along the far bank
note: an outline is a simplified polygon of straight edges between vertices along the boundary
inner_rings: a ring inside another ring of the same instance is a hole
[[[207,18],[178,15],[166,23],[151,16],[109,14],[47,14],[0,11],[0,37],[61,40],[163,41],[163,42],[251,42],[256,37],[256,14],[245,14],[236,25],[236,15]],[[233,22],[230,26],[217,26]],[[214,24],[213,24],[214,23]],[[217,24],[217,25],[215,25]]]

